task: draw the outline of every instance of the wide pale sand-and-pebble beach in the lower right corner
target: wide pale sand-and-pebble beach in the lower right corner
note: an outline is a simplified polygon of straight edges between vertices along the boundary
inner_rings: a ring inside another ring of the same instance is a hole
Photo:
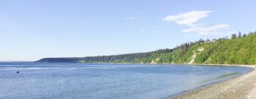
[[[256,99],[256,71],[253,71],[237,78],[215,83],[196,91],[189,91],[174,97],[175,99]]]

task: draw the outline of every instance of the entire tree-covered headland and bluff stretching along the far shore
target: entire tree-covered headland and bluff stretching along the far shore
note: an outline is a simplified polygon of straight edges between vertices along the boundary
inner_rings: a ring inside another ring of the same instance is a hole
[[[37,62],[142,64],[256,64],[256,32],[186,42],[173,49],[97,57],[45,58]]]

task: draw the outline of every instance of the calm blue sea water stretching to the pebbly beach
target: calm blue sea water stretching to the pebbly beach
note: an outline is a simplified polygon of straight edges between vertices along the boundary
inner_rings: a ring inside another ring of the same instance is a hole
[[[0,63],[0,98],[170,98],[248,71],[237,66]]]

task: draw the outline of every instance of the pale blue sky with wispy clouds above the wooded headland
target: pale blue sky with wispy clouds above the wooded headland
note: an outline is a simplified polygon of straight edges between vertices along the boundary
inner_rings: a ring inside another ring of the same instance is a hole
[[[148,52],[255,31],[254,0],[1,0],[0,61]]]

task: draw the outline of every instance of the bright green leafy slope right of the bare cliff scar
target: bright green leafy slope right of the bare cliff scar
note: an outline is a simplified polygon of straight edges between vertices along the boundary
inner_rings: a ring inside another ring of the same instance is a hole
[[[256,34],[210,43],[195,59],[198,64],[256,64]]]

